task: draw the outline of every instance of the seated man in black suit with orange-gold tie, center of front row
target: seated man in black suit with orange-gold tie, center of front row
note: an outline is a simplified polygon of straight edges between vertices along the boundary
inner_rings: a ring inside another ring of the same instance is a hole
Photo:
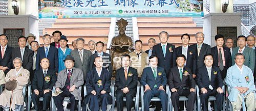
[[[123,97],[126,98],[127,111],[132,109],[133,98],[136,95],[138,74],[135,68],[129,67],[129,54],[122,56],[122,68],[116,71],[116,103],[117,110],[123,110]]]

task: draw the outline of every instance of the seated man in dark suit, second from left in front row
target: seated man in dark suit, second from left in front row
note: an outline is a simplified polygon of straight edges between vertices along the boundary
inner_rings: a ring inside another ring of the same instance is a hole
[[[35,110],[47,110],[50,106],[52,88],[57,80],[56,73],[53,69],[49,69],[49,60],[41,59],[40,65],[42,69],[35,71],[35,76],[32,81],[31,95]],[[43,97],[42,105],[39,105],[39,98]]]

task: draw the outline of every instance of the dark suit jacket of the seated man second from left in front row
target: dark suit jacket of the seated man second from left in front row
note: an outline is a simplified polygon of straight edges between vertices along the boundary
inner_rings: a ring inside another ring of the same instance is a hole
[[[44,72],[42,72],[42,69],[36,70],[32,80],[32,90],[38,90],[40,92],[46,89],[52,90],[57,81],[56,72],[53,69],[48,69],[46,76],[50,76],[50,82],[46,83],[46,86],[44,86]]]

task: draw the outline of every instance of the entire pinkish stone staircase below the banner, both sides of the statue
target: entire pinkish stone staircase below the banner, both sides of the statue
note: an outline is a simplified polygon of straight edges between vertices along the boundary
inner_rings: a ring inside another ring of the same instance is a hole
[[[116,18],[117,21],[120,18]],[[129,23],[126,26],[125,33],[133,39],[133,19],[131,17],[123,18]],[[88,48],[88,41],[102,41],[105,47],[109,39],[111,18],[66,18],[66,19],[41,19],[39,23],[40,44],[43,34],[50,34],[56,30],[66,35],[70,48],[73,49],[71,43],[77,38],[84,38]],[[143,50],[148,49],[147,40],[155,38],[156,43],[160,43],[158,34],[161,31],[169,33],[168,43],[176,46],[181,45],[181,35],[188,33],[191,36],[190,44],[196,43],[195,34],[199,31],[203,32],[203,19],[201,17],[138,17],[138,34],[139,39],[143,43]],[[118,35],[118,26],[115,26],[115,36]],[[53,42],[53,39],[52,39]],[[104,51],[105,48],[104,48]]]

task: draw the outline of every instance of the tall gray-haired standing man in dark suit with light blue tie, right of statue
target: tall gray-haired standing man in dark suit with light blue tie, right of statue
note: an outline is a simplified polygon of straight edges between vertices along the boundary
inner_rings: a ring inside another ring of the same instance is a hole
[[[176,49],[173,44],[167,43],[169,38],[167,32],[160,32],[158,37],[161,43],[153,47],[152,56],[158,57],[158,66],[164,68],[168,77],[170,68],[176,65]]]

